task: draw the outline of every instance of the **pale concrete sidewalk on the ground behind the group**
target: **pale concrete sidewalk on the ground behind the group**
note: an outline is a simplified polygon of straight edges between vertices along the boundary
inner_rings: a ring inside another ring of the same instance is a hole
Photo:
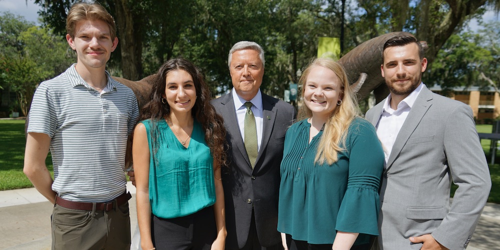
[[[137,225],[135,187],[130,204],[131,233]],[[53,205],[35,188],[0,191],[0,249],[50,249]],[[500,205],[484,207],[469,250],[500,250]]]

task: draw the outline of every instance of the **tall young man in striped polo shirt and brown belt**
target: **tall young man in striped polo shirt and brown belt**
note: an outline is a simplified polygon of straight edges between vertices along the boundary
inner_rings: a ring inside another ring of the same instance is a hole
[[[139,111],[133,91],[106,71],[116,24],[101,5],[76,3],[66,29],[77,63],[35,92],[24,172],[55,204],[53,249],[129,249],[125,152]]]

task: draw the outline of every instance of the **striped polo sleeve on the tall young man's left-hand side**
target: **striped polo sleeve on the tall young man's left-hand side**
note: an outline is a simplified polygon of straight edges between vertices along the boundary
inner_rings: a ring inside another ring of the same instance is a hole
[[[42,82],[35,91],[28,117],[27,132],[46,133],[54,137],[58,121],[54,96],[48,84]]]

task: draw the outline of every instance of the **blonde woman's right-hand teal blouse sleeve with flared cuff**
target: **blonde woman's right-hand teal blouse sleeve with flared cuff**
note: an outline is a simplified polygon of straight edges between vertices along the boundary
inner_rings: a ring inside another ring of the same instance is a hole
[[[346,139],[349,153],[347,189],[335,229],[378,235],[378,188],[384,153],[372,124],[364,119],[353,123]]]

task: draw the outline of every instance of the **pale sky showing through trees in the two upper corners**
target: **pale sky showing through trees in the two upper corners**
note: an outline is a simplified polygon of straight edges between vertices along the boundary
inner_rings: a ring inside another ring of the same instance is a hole
[[[28,4],[27,4],[28,2]],[[15,14],[24,16],[28,21],[40,24],[38,21],[37,11],[41,9],[38,4],[35,4],[34,0],[0,0],[0,12],[11,11]],[[483,20],[500,20],[499,16],[494,13],[494,11],[487,11],[482,15]],[[477,24],[477,20],[471,20],[469,22],[470,30],[477,30],[481,28]]]

